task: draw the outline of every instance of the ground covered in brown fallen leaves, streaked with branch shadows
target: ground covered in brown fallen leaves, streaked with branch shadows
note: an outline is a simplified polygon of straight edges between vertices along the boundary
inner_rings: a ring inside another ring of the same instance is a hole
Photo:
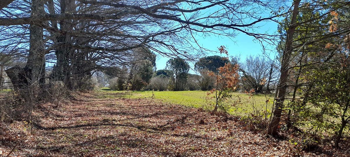
[[[348,156],[291,140],[267,138],[235,116],[115,93],[81,94],[34,112],[34,126],[14,121],[0,133],[0,156],[284,157]],[[118,97],[120,95],[120,97]],[[33,127],[33,128],[32,128]],[[255,130],[255,131],[254,131]]]

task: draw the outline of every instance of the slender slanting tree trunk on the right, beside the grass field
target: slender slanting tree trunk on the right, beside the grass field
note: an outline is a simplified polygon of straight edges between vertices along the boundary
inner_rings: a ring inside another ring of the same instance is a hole
[[[283,110],[283,101],[285,99],[286,90],[287,90],[287,78],[288,78],[290,55],[293,52],[292,44],[293,44],[294,31],[296,28],[295,22],[296,22],[296,16],[298,14],[300,1],[301,0],[294,1],[292,21],[291,21],[291,25],[288,28],[286,47],[282,55],[281,76],[280,76],[280,82],[277,89],[278,97],[275,97],[275,107],[273,110],[273,118],[267,128],[268,135],[277,135],[277,130],[279,128],[279,123],[281,120],[281,115]]]

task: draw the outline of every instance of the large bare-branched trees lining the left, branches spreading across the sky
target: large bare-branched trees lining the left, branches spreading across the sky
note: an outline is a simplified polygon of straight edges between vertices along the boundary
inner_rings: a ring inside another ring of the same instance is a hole
[[[91,89],[92,74],[113,67],[135,69],[125,79],[142,84],[148,78],[134,77],[140,69],[132,66],[148,63],[134,63],[135,49],[191,60],[205,52],[192,44],[196,36],[239,31],[265,40],[270,35],[254,25],[276,17],[258,15],[273,3],[244,0],[6,0],[0,7],[0,51],[12,58],[6,73],[29,104],[55,82],[66,91]]]

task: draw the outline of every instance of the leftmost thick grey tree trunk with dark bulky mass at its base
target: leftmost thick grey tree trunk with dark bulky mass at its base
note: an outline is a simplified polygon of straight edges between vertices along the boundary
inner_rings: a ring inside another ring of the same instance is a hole
[[[44,14],[44,1],[32,0],[31,3],[31,15]],[[37,19],[32,19],[36,22]],[[15,90],[29,90],[31,95],[28,96],[27,92],[23,92],[22,97],[36,98],[41,92],[40,85],[44,83],[45,78],[45,48],[43,40],[43,28],[37,25],[31,24],[29,26],[29,55],[27,58],[26,66],[14,66],[6,71],[8,77],[13,83]]]

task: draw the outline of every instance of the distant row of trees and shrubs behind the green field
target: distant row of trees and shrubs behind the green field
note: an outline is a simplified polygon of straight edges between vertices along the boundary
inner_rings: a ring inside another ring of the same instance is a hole
[[[215,88],[215,78],[210,72],[218,74],[218,69],[225,64],[239,64],[238,69],[241,79],[236,90],[270,93],[277,83],[278,64],[276,60],[266,57],[248,56],[245,61],[238,62],[239,58],[231,58],[218,55],[200,58],[195,63],[197,74],[189,74],[190,66],[187,61],[181,58],[172,58],[167,61],[166,69],[155,70],[155,54],[149,49],[144,53],[137,54],[136,62],[124,69],[124,74],[111,75],[112,70],[122,72],[120,68],[110,68],[104,74],[97,72],[96,79],[102,87],[111,87],[112,90],[211,90]],[[116,73],[116,72],[114,72]]]

